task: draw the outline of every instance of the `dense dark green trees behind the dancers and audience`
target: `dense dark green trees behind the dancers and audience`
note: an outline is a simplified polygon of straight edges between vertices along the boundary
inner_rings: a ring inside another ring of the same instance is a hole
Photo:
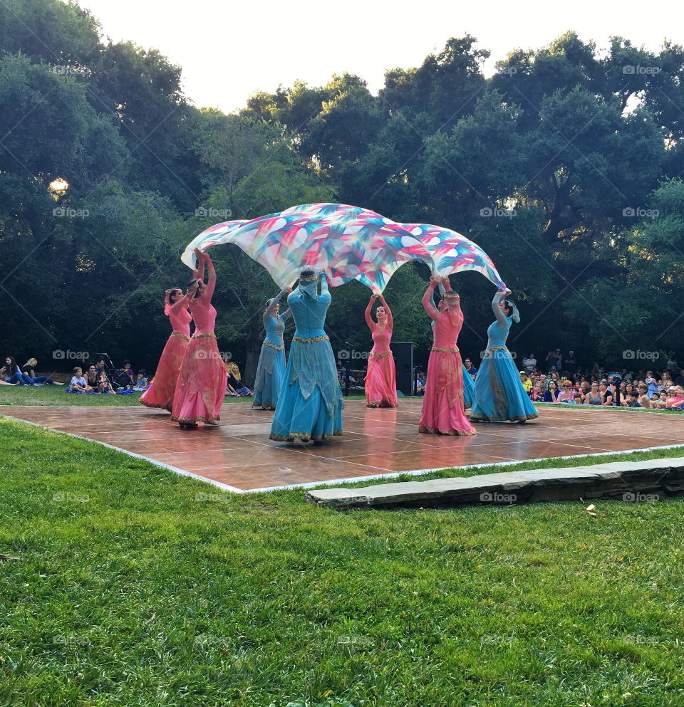
[[[558,345],[585,365],[620,367],[634,364],[625,350],[684,353],[684,49],[649,53],[616,37],[598,52],[569,32],[512,51],[491,78],[487,56],[475,38],[452,38],[422,66],[388,70],[378,95],[336,75],[255,93],[224,115],[191,105],[180,67],[157,51],[105,43],[78,5],[6,0],[6,353],[46,362],[55,350],[105,350],[153,367],[168,331],[163,290],[190,274],[178,259],[185,244],[228,214],[309,201],[469,235],[521,305],[509,340],[520,353],[543,359]],[[56,179],[68,188],[51,188]],[[237,248],[216,260],[220,347],[249,378],[276,287]],[[405,266],[388,287],[397,340],[427,344],[426,279]],[[477,357],[492,286],[454,279],[461,348]],[[368,347],[367,296],[356,283],[333,293],[334,346]]]

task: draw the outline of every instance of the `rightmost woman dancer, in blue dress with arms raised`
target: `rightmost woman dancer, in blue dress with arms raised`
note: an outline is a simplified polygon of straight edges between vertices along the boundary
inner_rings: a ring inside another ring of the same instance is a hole
[[[487,329],[487,354],[475,379],[471,420],[527,422],[539,417],[506,348],[511,323],[520,321],[517,307],[504,299],[507,294],[509,290],[499,290],[492,300],[497,320]]]

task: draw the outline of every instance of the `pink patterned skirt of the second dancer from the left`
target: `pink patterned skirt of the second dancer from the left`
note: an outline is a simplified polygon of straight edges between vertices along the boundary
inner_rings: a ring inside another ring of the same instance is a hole
[[[185,352],[173,397],[175,422],[214,422],[221,419],[226,394],[226,367],[213,334],[194,335]]]

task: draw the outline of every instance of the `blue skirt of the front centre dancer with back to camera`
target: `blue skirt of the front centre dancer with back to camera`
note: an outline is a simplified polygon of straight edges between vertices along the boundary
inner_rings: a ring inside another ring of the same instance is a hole
[[[271,439],[333,439],[342,434],[343,407],[330,341],[293,340]]]

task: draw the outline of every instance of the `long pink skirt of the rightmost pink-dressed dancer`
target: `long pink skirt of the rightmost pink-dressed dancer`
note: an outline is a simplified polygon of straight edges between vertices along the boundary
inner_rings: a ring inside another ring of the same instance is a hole
[[[430,351],[419,432],[475,434],[463,407],[463,369],[458,351]]]

